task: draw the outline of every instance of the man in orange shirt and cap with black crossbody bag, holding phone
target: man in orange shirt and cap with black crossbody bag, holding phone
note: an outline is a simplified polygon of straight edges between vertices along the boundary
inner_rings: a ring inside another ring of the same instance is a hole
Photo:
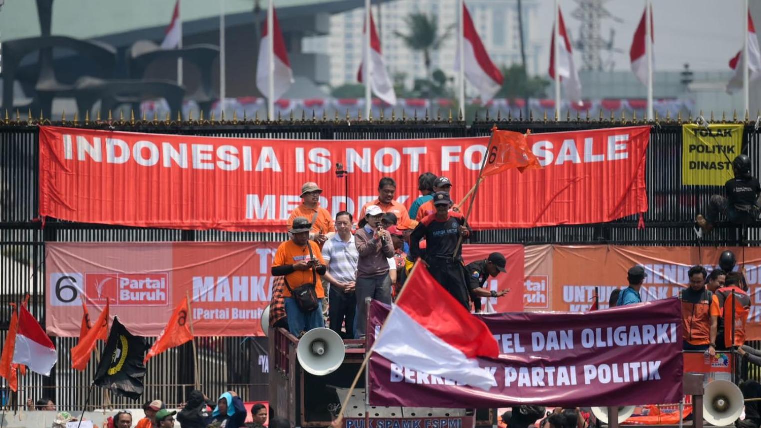
[[[272,276],[285,276],[285,314],[288,330],[296,337],[301,337],[314,328],[325,327],[322,302],[325,291],[320,276],[325,275],[326,267],[320,246],[309,240],[311,226],[304,217],[294,219],[293,227],[288,230],[291,240],[280,244],[275,260],[272,261]],[[294,299],[293,290],[301,287],[314,287],[317,295],[317,305],[314,308],[303,311]]]

